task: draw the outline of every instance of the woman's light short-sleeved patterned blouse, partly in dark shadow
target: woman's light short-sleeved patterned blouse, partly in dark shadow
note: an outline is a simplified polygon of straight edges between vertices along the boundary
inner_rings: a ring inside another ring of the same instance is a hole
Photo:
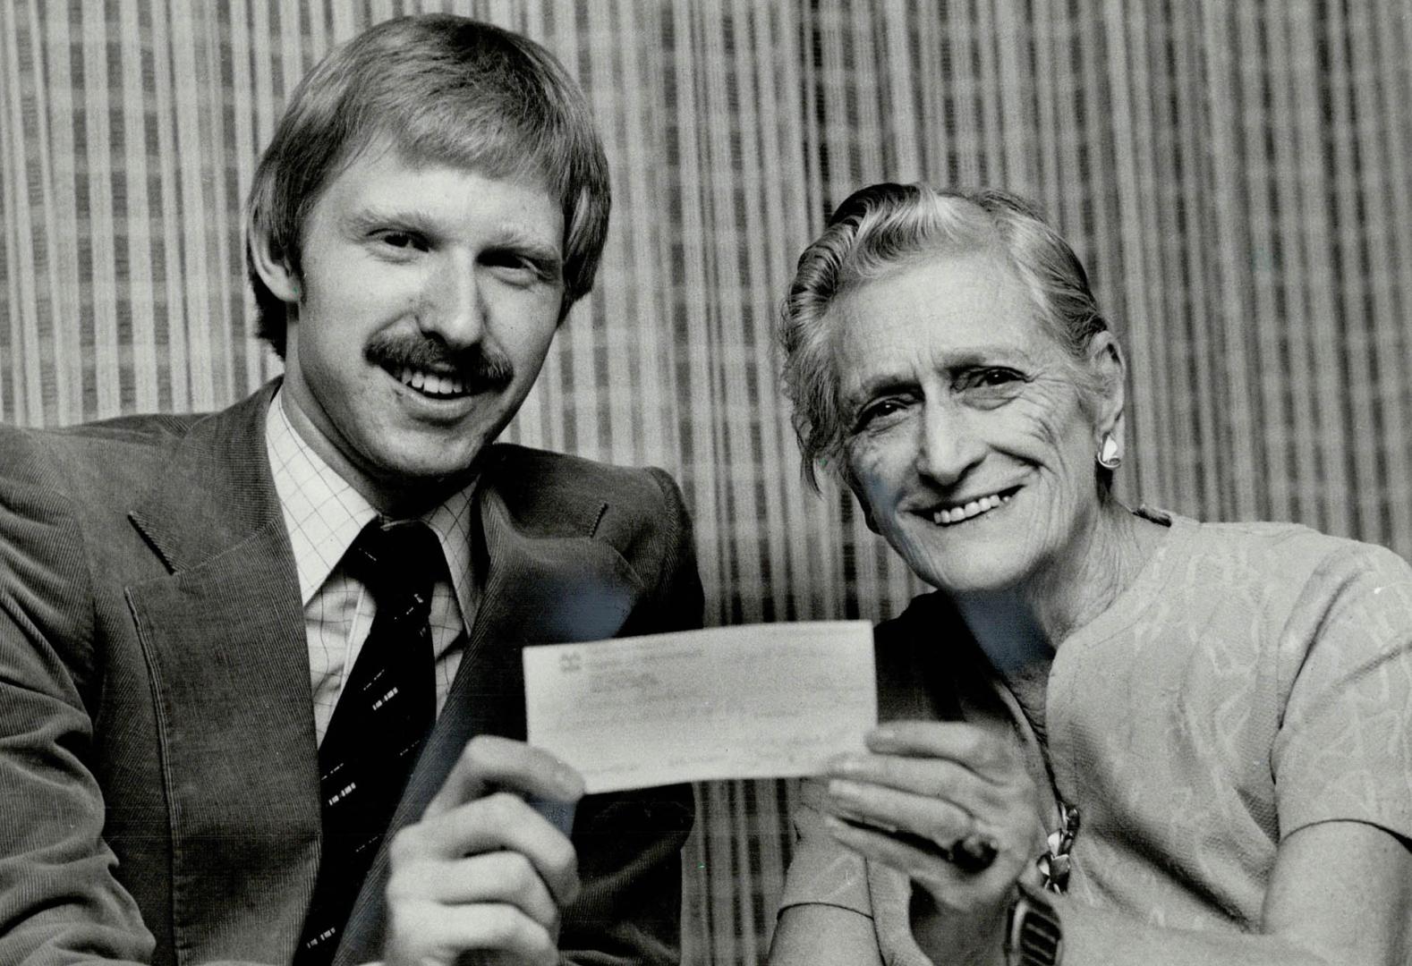
[[[1056,799],[1079,808],[1079,901],[1254,931],[1275,849],[1296,829],[1353,821],[1412,837],[1412,568],[1299,525],[1141,513],[1171,530],[1058,650],[1043,746],[939,593],[877,628],[880,713],[1008,732],[1055,826]],[[837,846],[819,795],[805,782],[781,908],[854,910],[884,962],[928,963],[908,881]]]

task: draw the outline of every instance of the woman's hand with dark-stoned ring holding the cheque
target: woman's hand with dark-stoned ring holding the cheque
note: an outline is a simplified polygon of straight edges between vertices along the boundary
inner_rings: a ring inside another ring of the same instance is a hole
[[[959,722],[891,722],[867,747],[825,773],[833,836],[911,877],[940,914],[1003,922],[1045,850],[1042,799],[1018,750]]]

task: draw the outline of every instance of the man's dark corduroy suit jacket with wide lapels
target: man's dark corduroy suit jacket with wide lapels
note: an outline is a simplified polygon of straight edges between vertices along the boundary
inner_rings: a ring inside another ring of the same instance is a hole
[[[308,645],[264,445],[205,417],[0,427],[0,963],[287,963],[319,859]],[[479,609],[336,963],[381,956],[387,842],[474,734],[522,739],[527,644],[699,626],[661,470],[480,459]],[[685,787],[580,802],[569,962],[678,960]]]

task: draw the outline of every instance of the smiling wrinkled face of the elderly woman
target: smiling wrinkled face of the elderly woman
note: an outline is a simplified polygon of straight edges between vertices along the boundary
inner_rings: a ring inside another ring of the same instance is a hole
[[[1097,431],[1007,266],[916,263],[834,311],[850,479],[922,579],[952,593],[1021,586],[1086,538]]]

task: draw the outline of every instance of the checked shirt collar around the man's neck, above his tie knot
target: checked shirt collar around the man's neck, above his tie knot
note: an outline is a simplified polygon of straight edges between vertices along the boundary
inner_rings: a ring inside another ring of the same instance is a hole
[[[289,424],[284,393],[275,393],[265,415],[265,451],[280,496],[299,576],[299,600],[308,606],[328,582],[377,508],[339,476]],[[476,480],[470,480],[421,515],[446,556],[462,614],[472,614],[470,515]]]

